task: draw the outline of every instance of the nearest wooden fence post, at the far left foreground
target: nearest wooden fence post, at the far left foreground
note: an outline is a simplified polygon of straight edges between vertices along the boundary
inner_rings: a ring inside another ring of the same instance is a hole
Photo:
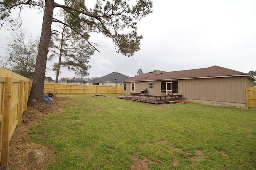
[[[3,115],[3,135],[2,135],[2,156],[1,166],[8,165],[9,159],[9,116],[11,110],[12,94],[12,78],[6,77],[5,91],[4,91],[4,115]]]

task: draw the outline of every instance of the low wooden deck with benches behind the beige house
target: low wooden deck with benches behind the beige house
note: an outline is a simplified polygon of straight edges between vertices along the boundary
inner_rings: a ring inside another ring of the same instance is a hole
[[[148,94],[137,94],[137,93],[130,93],[131,96],[126,96],[125,99],[133,100],[138,102],[146,102],[152,104],[162,104],[162,103],[173,103],[171,101],[174,100],[181,100],[182,95],[172,95],[172,96],[156,96],[156,95],[148,95]],[[117,97],[124,99],[124,96]]]

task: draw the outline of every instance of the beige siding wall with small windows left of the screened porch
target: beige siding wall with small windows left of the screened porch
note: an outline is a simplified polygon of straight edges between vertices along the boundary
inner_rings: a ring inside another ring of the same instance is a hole
[[[123,91],[124,94],[130,93],[140,93],[141,90],[148,90],[148,95],[161,95],[161,81],[150,81],[153,82],[153,88],[149,88],[149,82],[135,82],[134,92],[132,89],[132,82],[124,82],[126,83],[126,91]]]

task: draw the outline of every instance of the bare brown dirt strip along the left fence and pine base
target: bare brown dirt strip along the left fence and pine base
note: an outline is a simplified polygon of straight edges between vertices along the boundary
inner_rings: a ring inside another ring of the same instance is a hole
[[[61,111],[70,98],[52,97],[54,101],[43,102],[40,106],[30,106],[22,115],[22,126],[17,127],[10,141],[9,164],[1,170],[40,170],[47,168],[47,163],[54,158],[56,152],[48,146],[32,143],[29,133],[38,123],[38,119],[55,111]],[[35,159],[34,150],[40,150],[44,156]]]

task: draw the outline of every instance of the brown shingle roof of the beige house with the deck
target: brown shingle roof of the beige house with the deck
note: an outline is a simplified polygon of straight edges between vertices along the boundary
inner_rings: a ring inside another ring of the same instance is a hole
[[[192,70],[181,70],[165,72],[154,70],[140,76],[124,80],[124,82],[138,82],[151,80],[174,80],[174,79],[190,79],[190,78],[209,78],[209,77],[227,77],[227,76],[248,76],[255,79],[247,73],[231,70],[220,66],[211,66],[208,68],[198,68]]]

